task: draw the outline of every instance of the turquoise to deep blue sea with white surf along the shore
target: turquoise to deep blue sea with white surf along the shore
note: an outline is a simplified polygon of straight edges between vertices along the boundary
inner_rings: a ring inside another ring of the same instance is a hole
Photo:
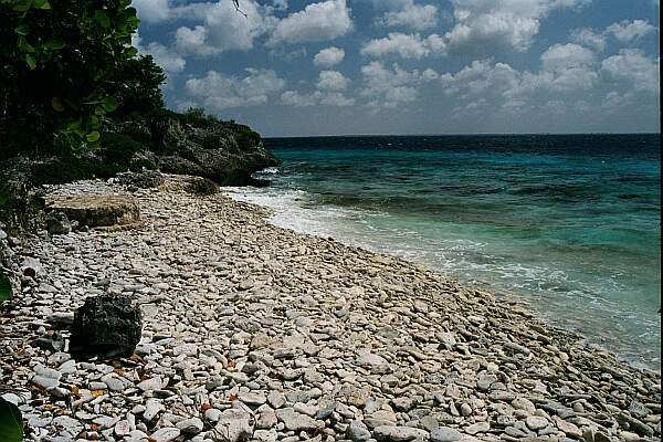
[[[660,135],[272,138],[236,198],[299,232],[515,295],[660,370]]]

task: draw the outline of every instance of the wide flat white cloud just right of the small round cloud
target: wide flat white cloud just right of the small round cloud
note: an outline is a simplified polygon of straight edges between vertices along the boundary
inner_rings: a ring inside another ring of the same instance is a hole
[[[444,41],[438,34],[422,39],[419,34],[391,32],[383,39],[369,41],[361,49],[361,53],[372,57],[399,55],[403,59],[419,60],[431,54],[442,54],[444,49]]]

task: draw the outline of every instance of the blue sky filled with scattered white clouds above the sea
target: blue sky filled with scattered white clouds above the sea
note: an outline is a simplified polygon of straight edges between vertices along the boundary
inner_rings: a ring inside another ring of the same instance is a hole
[[[167,105],[263,136],[660,131],[657,0],[134,0]]]

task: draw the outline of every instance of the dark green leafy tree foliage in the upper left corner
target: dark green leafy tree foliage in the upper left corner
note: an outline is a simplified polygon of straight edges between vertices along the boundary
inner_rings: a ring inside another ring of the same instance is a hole
[[[95,148],[105,116],[162,106],[161,69],[131,46],[130,0],[0,0],[0,137],[10,149],[48,138],[55,152]]]

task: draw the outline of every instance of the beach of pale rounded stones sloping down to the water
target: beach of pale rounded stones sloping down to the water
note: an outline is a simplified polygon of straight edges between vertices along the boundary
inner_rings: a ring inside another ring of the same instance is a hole
[[[167,179],[133,193],[139,227],[30,238],[19,250],[44,271],[2,318],[0,362],[3,383],[31,391],[33,434],[660,440],[659,372],[421,264],[272,225],[264,208]],[[126,192],[101,181],[57,189]],[[72,362],[33,346],[104,280],[141,305],[140,362]],[[57,390],[35,386],[40,371]]]

